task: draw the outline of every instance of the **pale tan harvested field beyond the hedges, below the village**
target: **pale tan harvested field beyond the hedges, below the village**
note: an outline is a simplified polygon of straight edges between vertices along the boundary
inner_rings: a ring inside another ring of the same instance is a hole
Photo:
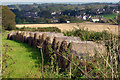
[[[91,22],[84,22],[84,23],[63,23],[63,24],[17,24],[18,28],[21,27],[57,27],[61,29],[61,31],[71,31],[73,29],[84,28],[88,29],[89,31],[96,31],[101,32],[103,30],[107,30],[113,34],[118,35],[118,25],[110,25],[110,24],[103,24],[103,23],[91,23]]]

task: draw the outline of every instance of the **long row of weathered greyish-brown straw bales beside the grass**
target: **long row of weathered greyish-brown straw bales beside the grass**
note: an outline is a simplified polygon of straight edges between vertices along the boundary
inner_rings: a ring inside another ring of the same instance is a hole
[[[100,53],[106,52],[105,46],[101,44],[92,41],[81,41],[79,37],[68,37],[64,36],[62,33],[55,32],[10,32],[7,39],[28,43],[30,46],[36,48],[40,46],[47,57],[56,54],[58,65],[63,69],[69,66],[72,55],[82,59],[87,55],[90,57],[94,56],[95,51]],[[49,47],[53,50],[52,54],[49,54]],[[71,54],[67,52],[69,49]],[[68,54],[69,56],[67,56]],[[63,56],[68,57],[70,61],[65,60]]]

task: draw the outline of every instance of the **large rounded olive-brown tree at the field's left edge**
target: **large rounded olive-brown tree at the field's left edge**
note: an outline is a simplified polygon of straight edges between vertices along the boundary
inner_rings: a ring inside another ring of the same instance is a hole
[[[7,7],[2,6],[2,27],[5,30],[15,29],[15,14]]]

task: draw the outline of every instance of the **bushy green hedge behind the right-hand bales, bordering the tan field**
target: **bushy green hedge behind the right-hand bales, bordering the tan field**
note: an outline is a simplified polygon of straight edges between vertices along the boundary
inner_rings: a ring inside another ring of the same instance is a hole
[[[64,32],[65,36],[76,36],[80,37],[82,41],[99,41],[99,40],[109,40],[110,39],[110,33],[107,31],[103,32],[95,32],[95,31],[88,31],[87,29],[76,29],[73,31],[67,31]]]

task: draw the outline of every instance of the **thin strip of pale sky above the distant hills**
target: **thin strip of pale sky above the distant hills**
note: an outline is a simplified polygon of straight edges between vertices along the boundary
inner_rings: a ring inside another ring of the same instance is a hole
[[[119,2],[120,0],[2,0],[1,2]]]

